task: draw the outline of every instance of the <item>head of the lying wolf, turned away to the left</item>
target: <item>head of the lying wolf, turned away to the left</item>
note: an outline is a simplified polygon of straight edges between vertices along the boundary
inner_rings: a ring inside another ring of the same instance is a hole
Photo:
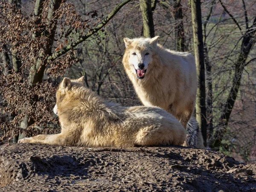
[[[74,85],[76,85],[77,87],[84,86],[84,76],[80,77],[79,79],[69,79],[67,77],[64,77],[56,92],[56,105],[53,108],[53,112],[56,115],[58,115],[58,103],[63,100],[67,91],[71,90]]]

